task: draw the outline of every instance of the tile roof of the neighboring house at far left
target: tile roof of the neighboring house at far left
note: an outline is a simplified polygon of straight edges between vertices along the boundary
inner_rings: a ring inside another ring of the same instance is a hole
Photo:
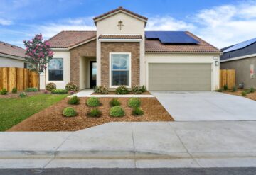
[[[0,53],[5,55],[12,55],[16,57],[25,57],[25,50],[16,45],[10,45],[0,41]]]

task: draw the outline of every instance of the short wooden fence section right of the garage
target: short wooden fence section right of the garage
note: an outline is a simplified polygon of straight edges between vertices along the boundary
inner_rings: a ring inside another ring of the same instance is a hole
[[[220,88],[223,88],[225,84],[228,86],[228,89],[232,89],[235,86],[234,69],[220,69]]]

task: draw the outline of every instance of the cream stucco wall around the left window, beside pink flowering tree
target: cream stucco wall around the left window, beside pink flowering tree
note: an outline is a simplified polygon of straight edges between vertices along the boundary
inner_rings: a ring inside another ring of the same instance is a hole
[[[63,81],[48,81],[48,69],[46,74],[46,84],[53,82],[57,89],[65,89],[65,85],[70,82],[70,52],[69,51],[54,51],[53,58],[63,58]],[[40,74],[40,89],[45,87],[45,74]]]

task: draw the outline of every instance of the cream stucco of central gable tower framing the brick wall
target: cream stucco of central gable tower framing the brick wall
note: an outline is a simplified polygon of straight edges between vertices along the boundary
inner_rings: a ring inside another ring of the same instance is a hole
[[[117,24],[118,21],[123,22],[123,28],[122,30],[119,30]],[[145,23],[144,21],[140,21],[137,18],[134,18],[132,16],[129,16],[125,13],[116,13],[113,16],[110,16],[108,18],[103,19],[102,21],[97,21],[97,38],[99,35],[102,34],[136,34],[136,35],[142,35],[142,41],[139,43],[140,50],[139,50],[139,59],[140,59],[140,84],[145,84],[145,74],[146,74],[146,64],[144,62],[144,53],[145,53],[145,43],[144,43],[144,28]],[[97,40],[97,85],[100,85],[102,83],[101,81],[101,51],[100,51],[100,40]]]

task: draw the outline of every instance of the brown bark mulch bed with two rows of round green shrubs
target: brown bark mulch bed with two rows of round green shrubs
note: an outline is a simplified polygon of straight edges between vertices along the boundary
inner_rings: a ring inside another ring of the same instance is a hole
[[[141,116],[132,115],[132,108],[127,106],[129,98],[119,98],[126,115],[122,118],[113,118],[109,115],[109,102],[111,99],[109,97],[100,98],[101,106],[98,107],[102,111],[100,118],[87,117],[86,114],[91,108],[85,104],[87,98],[80,98],[80,105],[78,106],[68,105],[68,98],[65,98],[55,105],[23,120],[8,131],[73,131],[108,122],[174,121],[156,98],[140,98],[142,102],[141,107],[144,111],[144,115]],[[63,117],[63,108],[67,106],[75,108],[78,115],[73,118]]]

